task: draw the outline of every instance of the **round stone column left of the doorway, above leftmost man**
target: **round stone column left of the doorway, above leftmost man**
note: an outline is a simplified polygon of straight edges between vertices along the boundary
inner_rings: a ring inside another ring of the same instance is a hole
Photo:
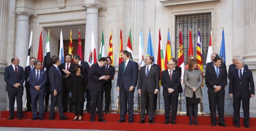
[[[17,30],[16,30],[16,45],[15,57],[21,61],[19,66],[26,67],[28,58],[28,44],[29,44],[29,17],[28,13],[17,13]]]

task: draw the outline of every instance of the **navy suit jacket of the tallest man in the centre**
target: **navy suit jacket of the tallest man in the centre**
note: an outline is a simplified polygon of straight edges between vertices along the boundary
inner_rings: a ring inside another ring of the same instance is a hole
[[[132,60],[129,60],[126,64],[125,72],[123,71],[124,62],[119,64],[118,68],[118,79],[116,86],[119,86],[120,89],[125,88],[126,91],[129,91],[130,86],[136,87],[138,81],[138,63]],[[135,88],[133,88],[135,89]]]

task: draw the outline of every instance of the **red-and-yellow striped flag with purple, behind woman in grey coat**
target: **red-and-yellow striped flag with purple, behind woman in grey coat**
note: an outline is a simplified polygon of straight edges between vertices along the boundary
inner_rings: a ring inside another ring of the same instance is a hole
[[[201,44],[200,29],[198,30],[198,37],[197,37],[196,61],[197,61],[197,66],[200,67],[202,77],[204,77],[204,75],[203,75],[203,64],[202,64],[202,44]],[[203,84],[204,83],[202,83],[202,85]]]

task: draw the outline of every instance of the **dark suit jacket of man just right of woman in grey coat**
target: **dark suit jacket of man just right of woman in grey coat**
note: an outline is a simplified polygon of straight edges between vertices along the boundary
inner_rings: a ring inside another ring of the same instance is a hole
[[[225,85],[227,84],[227,70],[219,67],[219,78],[217,78],[216,71],[213,66],[209,66],[205,72],[205,81],[208,83],[208,94],[225,94]],[[214,86],[220,86],[221,90],[214,92]]]

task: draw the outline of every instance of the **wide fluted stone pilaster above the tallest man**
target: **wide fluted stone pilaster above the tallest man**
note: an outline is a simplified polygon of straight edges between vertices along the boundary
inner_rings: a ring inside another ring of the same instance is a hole
[[[144,29],[144,0],[125,0],[125,22],[123,31],[125,40],[124,50],[126,50],[126,45],[129,37],[129,32],[131,29],[131,40],[133,48],[133,58],[138,61],[138,43],[140,29]],[[144,31],[145,32],[145,31]],[[144,36],[146,36],[144,34]]]

